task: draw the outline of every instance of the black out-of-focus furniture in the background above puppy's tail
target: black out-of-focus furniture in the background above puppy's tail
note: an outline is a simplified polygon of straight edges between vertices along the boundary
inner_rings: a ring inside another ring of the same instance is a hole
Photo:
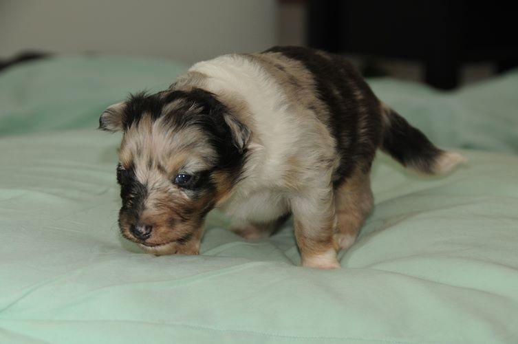
[[[426,83],[458,85],[463,63],[518,65],[517,11],[511,1],[310,0],[307,43],[330,52],[407,58]]]

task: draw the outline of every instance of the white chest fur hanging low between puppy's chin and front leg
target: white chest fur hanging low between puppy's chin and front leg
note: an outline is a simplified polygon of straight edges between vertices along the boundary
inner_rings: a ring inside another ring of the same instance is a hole
[[[288,198],[272,189],[239,190],[219,208],[235,219],[270,222],[289,211]]]

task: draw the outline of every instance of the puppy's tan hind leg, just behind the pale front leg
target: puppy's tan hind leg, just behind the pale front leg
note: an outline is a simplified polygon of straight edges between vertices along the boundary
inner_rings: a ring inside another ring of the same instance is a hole
[[[373,201],[369,173],[363,173],[360,169],[336,187],[334,239],[339,248],[347,249],[354,244],[363,222],[371,211]]]

